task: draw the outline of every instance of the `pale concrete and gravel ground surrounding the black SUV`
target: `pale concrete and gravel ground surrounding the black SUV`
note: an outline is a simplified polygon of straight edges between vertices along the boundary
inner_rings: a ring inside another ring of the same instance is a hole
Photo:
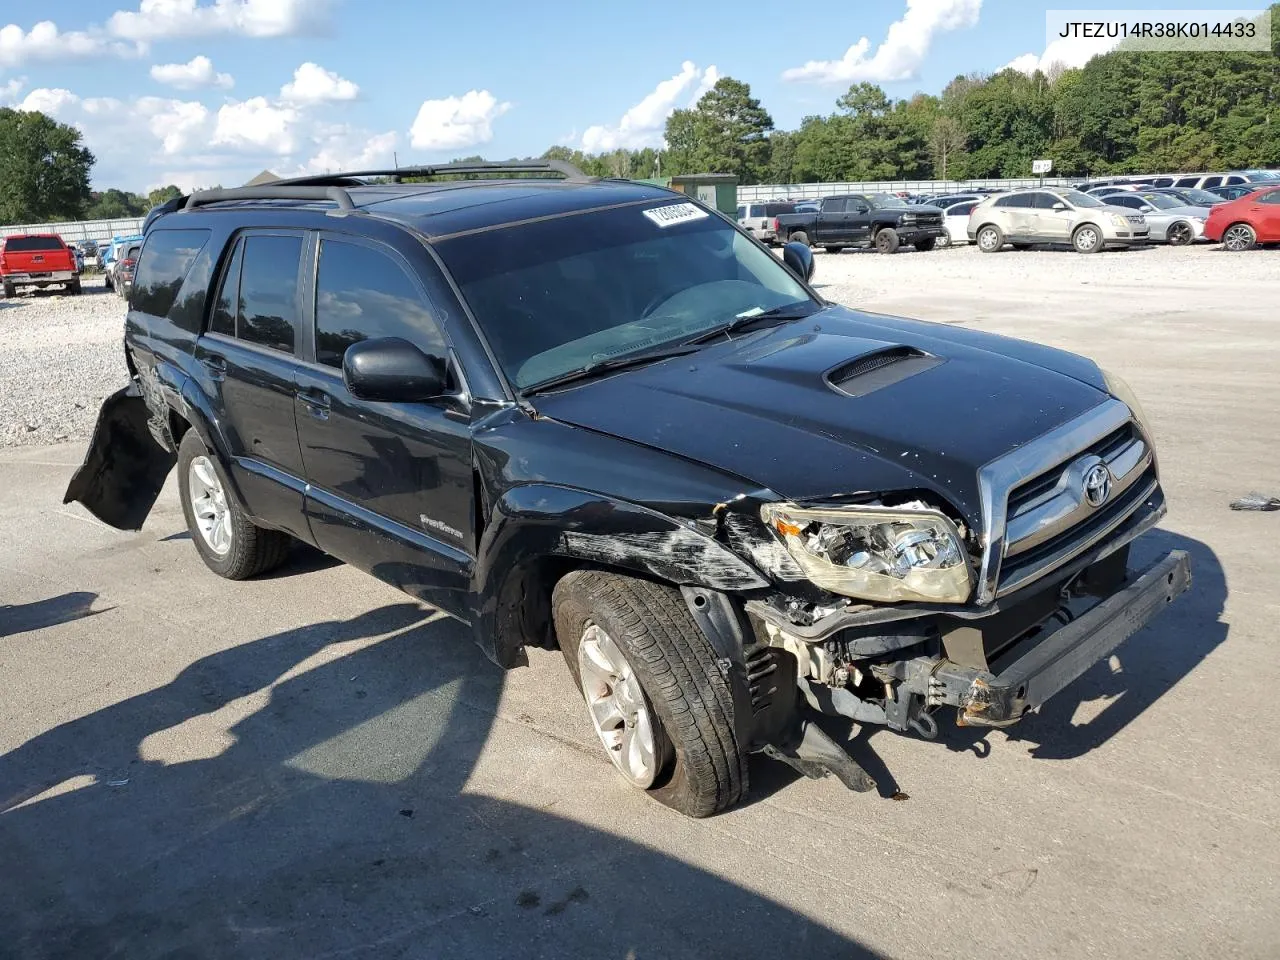
[[[832,300],[1129,380],[1170,499],[1140,559],[1189,550],[1194,586],[1016,727],[863,731],[867,795],[758,758],[696,823],[613,774],[558,653],[500,675],[310,553],[219,580],[172,476],[137,534],[64,507],[120,308],[0,306],[6,425],[77,439],[0,451],[0,955],[1275,960],[1280,515],[1226,504],[1280,494],[1277,278],[1203,247],[819,253]]]

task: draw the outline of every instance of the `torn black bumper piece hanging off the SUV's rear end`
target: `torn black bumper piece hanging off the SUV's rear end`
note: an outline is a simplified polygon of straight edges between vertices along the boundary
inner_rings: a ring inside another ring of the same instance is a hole
[[[177,462],[151,435],[150,419],[137,381],[102,401],[93,439],[63,503],[82,503],[118,530],[141,530]]]

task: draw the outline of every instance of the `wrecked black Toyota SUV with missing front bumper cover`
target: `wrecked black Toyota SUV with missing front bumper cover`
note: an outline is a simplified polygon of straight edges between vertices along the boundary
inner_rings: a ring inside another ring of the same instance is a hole
[[[440,173],[492,179],[401,182]],[[1189,584],[1179,552],[1126,570],[1165,500],[1120,381],[827,303],[808,247],[681,193],[415,168],[145,233],[133,379],[68,500],[137,529],[177,465],[223,576],[303,540],[503,667],[558,646],[618,771],[687,814],[753,751],[874,786],[814,710],[1014,723]]]

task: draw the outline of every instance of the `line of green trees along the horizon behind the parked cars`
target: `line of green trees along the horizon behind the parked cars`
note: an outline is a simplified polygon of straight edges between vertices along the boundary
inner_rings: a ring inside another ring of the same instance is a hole
[[[1117,50],[1078,69],[956,77],[937,96],[902,100],[855,83],[792,131],[774,128],[749,84],[722,77],[672,113],[663,148],[543,156],[598,177],[732,173],[745,184],[1028,177],[1042,157],[1065,177],[1280,168],[1280,4],[1271,14],[1270,51]],[[141,216],[179,193],[91,192],[92,164],[74,127],[0,109],[0,223]]]

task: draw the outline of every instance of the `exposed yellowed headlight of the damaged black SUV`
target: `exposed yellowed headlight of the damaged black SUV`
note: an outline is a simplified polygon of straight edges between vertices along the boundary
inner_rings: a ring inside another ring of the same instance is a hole
[[[760,516],[824,590],[882,603],[964,603],[973,581],[960,531],[945,515],[920,507],[767,503]]]

